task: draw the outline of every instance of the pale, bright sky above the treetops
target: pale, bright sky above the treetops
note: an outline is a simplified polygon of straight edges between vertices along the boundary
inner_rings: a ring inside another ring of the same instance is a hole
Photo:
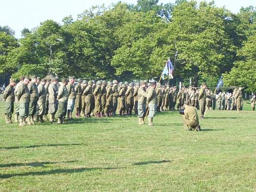
[[[63,17],[77,15],[94,5],[111,5],[120,0],[7,0],[1,1],[0,26],[8,25],[15,31],[15,37],[20,38],[22,29],[33,29],[47,19],[61,23]],[[136,4],[137,0],[121,0]],[[207,0],[209,2],[210,0]],[[175,0],[159,0],[159,3],[174,3]],[[198,0],[200,2],[200,0]],[[218,7],[225,7],[233,13],[241,7],[255,6],[255,0],[215,0]]]

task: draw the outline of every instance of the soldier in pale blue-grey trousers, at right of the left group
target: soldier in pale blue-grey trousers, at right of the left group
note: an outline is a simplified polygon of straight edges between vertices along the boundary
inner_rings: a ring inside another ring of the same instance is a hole
[[[72,113],[75,107],[76,91],[74,88],[74,82],[75,82],[75,77],[69,77],[69,83],[66,86],[68,90],[68,106],[67,106],[68,120],[73,119]]]

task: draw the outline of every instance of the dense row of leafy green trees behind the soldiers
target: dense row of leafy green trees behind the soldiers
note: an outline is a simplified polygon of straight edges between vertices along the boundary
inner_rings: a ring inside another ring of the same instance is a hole
[[[17,77],[35,67],[42,75],[150,79],[161,74],[170,57],[173,83],[191,77],[195,86],[201,81],[215,86],[225,73],[227,86],[252,91],[255,15],[254,7],[233,14],[214,2],[138,0],[93,7],[77,20],[63,18],[62,24],[46,20],[25,28],[18,40],[5,26],[0,28],[0,75]]]

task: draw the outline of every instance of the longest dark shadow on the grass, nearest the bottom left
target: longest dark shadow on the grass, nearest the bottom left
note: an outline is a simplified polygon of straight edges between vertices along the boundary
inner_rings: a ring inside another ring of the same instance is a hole
[[[82,173],[82,172],[90,172],[94,170],[111,170],[111,169],[119,169],[119,168],[125,168],[125,167],[106,167],[106,168],[70,168],[70,169],[54,169],[54,170],[48,170],[43,172],[28,172],[28,173],[21,173],[21,174],[4,174],[0,175],[1,179],[8,179],[11,177],[17,177],[17,176],[41,176],[41,175],[53,175],[53,174],[74,174],[74,173]]]

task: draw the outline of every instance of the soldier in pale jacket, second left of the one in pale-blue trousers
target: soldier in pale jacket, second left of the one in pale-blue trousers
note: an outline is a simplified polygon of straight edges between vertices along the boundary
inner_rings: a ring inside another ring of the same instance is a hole
[[[57,83],[58,83],[58,78],[55,77],[52,79],[51,84],[48,87],[48,91],[49,91],[49,113],[50,113],[50,117],[49,117],[49,121],[50,122],[55,122],[55,114],[57,112],[58,109],[58,101],[57,101],[57,95],[58,95],[58,87],[57,87]]]

